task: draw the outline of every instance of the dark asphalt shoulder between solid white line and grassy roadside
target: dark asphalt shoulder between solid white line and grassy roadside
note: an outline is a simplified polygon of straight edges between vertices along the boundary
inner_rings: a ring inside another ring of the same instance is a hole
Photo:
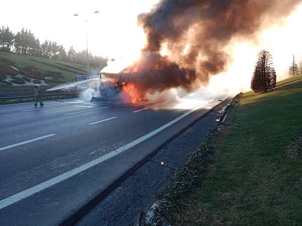
[[[200,110],[199,114],[204,115],[207,110]],[[68,216],[81,215],[80,213],[86,209],[85,206],[88,208],[88,205],[103,199],[108,192],[143,163],[142,159],[146,160],[154,154],[157,150],[155,144],[166,143],[171,135],[176,136],[177,128],[182,128],[182,124],[182,121],[178,121],[171,127],[165,128],[163,133],[155,134],[119,155],[1,209],[0,213],[3,212],[5,216],[1,219],[2,222],[6,223],[8,220],[6,216],[13,212],[24,217],[26,222],[30,222],[29,224],[36,224],[44,218],[47,219],[43,221],[44,225],[58,225],[62,220],[72,224]]]

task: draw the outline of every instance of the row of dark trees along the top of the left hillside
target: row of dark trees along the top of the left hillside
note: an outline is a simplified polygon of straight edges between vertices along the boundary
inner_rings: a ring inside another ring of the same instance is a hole
[[[83,65],[87,64],[86,50],[77,53],[71,46],[66,53],[65,48],[57,42],[45,40],[41,43],[30,30],[24,28],[17,34],[14,34],[9,27],[5,28],[2,26],[0,29],[0,51],[62,60]],[[91,53],[88,53],[88,59],[90,66],[100,68],[104,68],[108,61],[107,57],[93,56]]]

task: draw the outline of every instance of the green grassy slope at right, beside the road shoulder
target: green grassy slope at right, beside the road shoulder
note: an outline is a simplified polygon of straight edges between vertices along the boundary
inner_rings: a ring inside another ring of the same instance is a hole
[[[203,187],[173,225],[302,225],[302,75],[237,103],[212,141]]]

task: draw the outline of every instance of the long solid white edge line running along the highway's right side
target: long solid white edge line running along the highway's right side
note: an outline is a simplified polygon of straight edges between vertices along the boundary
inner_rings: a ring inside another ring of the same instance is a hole
[[[15,203],[15,202],[18,202],[18,201],[20,201],[20,200],[22,200],[22,199],[24,199],[24,198],[26,198],[26,197],[29,197],[29,196],[31,196],[31,195],[33,195],[33,194],[39,192],[39,191],[42,191],[42,190],[44,190],[45,188],[48,188],[48,187],[50,187],[50,186],[52,186],[52,185],[54,185],[54,184],[56,184],[56,183],[59,183],[60,181],[63,181],[63,180],[65,180],[65,179],[67,179],[67,178],[69,178],[69,177],[71,177],[71,176],[74,176],[74,175],[76,175],[76,174],[78,174],[78,173],[81,173],[81,172],[83,172],[84,170],[87,170],[87,169],[89,169],[89,168],[91,168],[91,167],[93,167],[93,166],[95,166],[95,165],[97,165],[97,164],[99,164],[99,163],[101,163],[101,162],[104,162],[105,160],[110,159],[110,158],[112,158],[113,156],[116,156],[116,155],[118,155],[119,153],[122,153],[122,152],[128,150],[129,148],[132,148],[133,146],[135,146],[135,145],[137,145],[137,144],[143,142],[144,140],[146,140],[146,139],[148,139],[148,138],[150,138],[150,137],[152,137],[152,136],[154,136],[154,135],[160,133],[161,131],[163,131],[163,130],[166,129],[167,127],[173,125],[174,123],[180,121],[180,120],[183,119],[184,117],[190,115],[192,112],[194,112],[194,111],[197,110],[198,108],[204,106],[205,104],[207,104],[208,102],[210,102],[210,101],[213,100],[213,99],[214,99],[214,98],[212,98],[212,99],[210,99],[210,100],[204,102],[203,104],[201,104],[201,105],[195,107],[194,109],[192,109],[192,110],[186,112],[184,115],[182,115],[182,116],[176,118],[175,120],[171,121],[170,123],[167,123],[166,125],[164,125],[164,126],[158,128],[158,129],[156,129],[156,130],[154,130],[154,131],[152,131],[152,132],[146,134],[145,136],[142,136],[142,137],[136,139],[135,141],[130,142],[129,144],[126,144],[126,145],[120,147],[119,149],[117,149],[117,150],[115,150],[115,151],[109,152],[109,153],[107,153],[106,155],[103,155],[103,156],[101,156],[101,157],[99,157],[99,158],[97,158],[97,159],[94,159],[94,160],[92,160],[92,161],[90,161],[90,162],[88,162],[88,163],[85,163],[85,164],[82,165],[82,166],[79,166],[79,167],[77,167],[77,168],[74,168],[74,169],[72,169],[72,170],[69,170],[69,171],[66,172],[66,173],[63,173],[63,174],[61,174],[61,175],[58,175],[58,176],[56,176],[56,177],[54,177],[54,178],[52,178],[52,179],[49,179],[49,180],[47,180],[47,181],[45,181],[45,182],[43,182],[43,183],[40,183],[40,184],[38,184],[38,185],[36,185],[36,186],[33,186],[33,187],[28,188],[28,189],[26,189],[26,190],[24,190],[24,191],[21,191],[21,192],[19,192],[19,193],[17,193],[17,194],[14,194],[14,195],[12,195],[12,196],[10,196],[10,197],[8,197],[8,198],[5,198],[5,199],[3,199],[3,200],[0,200],[0,209],[3,209],[3,208],[5,208],[5,207],[7,207],[7,206],[9,206],[9,205],[11,205],[11,204],[13,204],[13,203]]]

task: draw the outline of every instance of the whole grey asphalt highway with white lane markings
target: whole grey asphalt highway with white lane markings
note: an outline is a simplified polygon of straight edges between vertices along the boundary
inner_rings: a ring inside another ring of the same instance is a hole
[[[59,225],[225,98],[0,105],[0,225]]]

